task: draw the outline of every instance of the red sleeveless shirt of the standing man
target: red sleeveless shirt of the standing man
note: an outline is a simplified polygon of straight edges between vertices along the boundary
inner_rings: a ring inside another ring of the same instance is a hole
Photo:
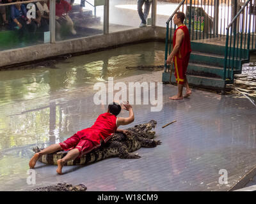
[[[180,50],[179,52],[177,52],[175,56],[179,57],[180,59],[183,59],[185,57],[188,57],[188,55],[191,53],[190,37],[188,27],[186,25],[180,25],[179,27],[177,27],[173,35],[173,47],[175,46],[176,43],[176,33],[178,29],[182,29],[182,31],[184,32],[184,38],[182,40]]]

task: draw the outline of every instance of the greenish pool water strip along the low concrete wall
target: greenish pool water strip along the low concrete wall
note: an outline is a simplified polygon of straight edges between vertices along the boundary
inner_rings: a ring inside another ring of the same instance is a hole
[[[120,78],[145,73],[126,69],[126,66],[163,64],[163,55],[164,43],[153,42],[71,57],[60,62],[42,62],[37,66],[19,67],[19,70],[14,71],[1,71],[0,106],[92,85],[108,77]]]

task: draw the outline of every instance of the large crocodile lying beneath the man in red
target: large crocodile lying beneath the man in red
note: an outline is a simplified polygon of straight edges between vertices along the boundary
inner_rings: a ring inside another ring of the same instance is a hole
[[[120,157],[121,159],[138,159],[138,154],[132,154],[141,147],[156,147],[161,145],[160,140],[153,140],[156,132],[152,129],[156,127],[156,120],[150,120],[145,124],[138,124],[133,128],[127,128],[129,135],[115,133],[108,142],[103,143],[99,148],[92,150],[88,154],[68,161],[66,166],[95,163],[108,157]],[[40,152],[38,146],[33,147],[34,152]],[[68,151],[58,151],[40,156],[38,161],[45,164],[57,165],[57,160],[66,156]]]

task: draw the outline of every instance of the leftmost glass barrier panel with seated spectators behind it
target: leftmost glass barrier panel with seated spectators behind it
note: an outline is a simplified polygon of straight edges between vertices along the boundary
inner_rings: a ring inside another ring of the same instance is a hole
[[[0,51],[50,42],[46,3],[0,0]]]

